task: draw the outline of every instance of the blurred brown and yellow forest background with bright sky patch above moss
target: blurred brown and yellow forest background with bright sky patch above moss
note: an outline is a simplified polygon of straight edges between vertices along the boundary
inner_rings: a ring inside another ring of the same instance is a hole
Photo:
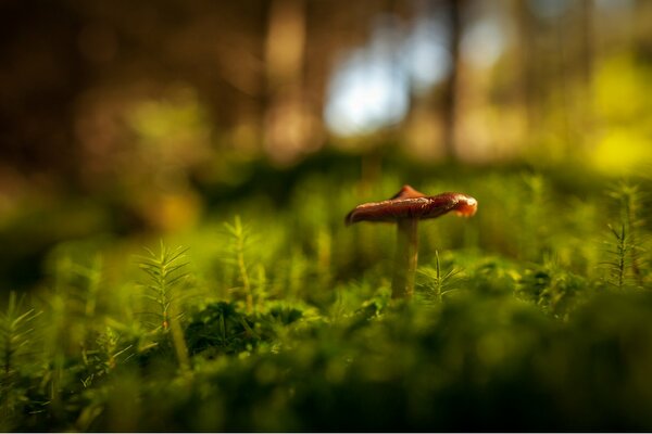
[[[645,0],[2,1],[1,288],[311,170],[640,173],[650,95]]]

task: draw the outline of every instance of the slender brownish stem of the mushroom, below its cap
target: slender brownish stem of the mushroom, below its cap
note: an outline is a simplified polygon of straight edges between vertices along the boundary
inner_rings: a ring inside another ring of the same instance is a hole
[[[392,298],[412,298],[418,256],[418,219],[400,218],[397,222],[397,253],[391,282]]]

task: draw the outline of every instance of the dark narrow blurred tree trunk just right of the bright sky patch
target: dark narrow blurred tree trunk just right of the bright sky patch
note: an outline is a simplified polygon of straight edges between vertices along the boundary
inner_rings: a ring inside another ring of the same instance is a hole
[[[460,40],[463,31],[462,10],[465,0],[447,0],[447,13],[449,21],[449,51],[451,54],[451,71],[444,85],[443,91],[443,146],[449,158],[456,155],[456,102],[457,102],[457,78],[460,68]]]

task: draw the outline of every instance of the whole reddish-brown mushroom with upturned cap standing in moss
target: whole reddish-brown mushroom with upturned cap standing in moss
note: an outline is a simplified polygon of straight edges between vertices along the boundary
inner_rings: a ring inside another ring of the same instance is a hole
[[[359,221],[397,224],[397,252],[391,283],[392,298],[410,298],[414,293],[414,273],[418,254],[417,224],[421,219],[437,218],[450,212],[473,216],[478,202],[463,193],[441,193],[427,196],[410,186],[391,199],[358,205],[346,218],[347,226]]]

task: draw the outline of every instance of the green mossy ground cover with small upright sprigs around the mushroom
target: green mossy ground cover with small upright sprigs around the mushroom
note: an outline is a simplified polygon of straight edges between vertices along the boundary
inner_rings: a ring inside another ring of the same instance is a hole
[[[649,431],[650,180],[574,175],[309,171],[186,230],[60,242],[3,305],[0,429]],[[411,302],[394,228],[343,225],[406,182],[479,203],[422,224]]]

